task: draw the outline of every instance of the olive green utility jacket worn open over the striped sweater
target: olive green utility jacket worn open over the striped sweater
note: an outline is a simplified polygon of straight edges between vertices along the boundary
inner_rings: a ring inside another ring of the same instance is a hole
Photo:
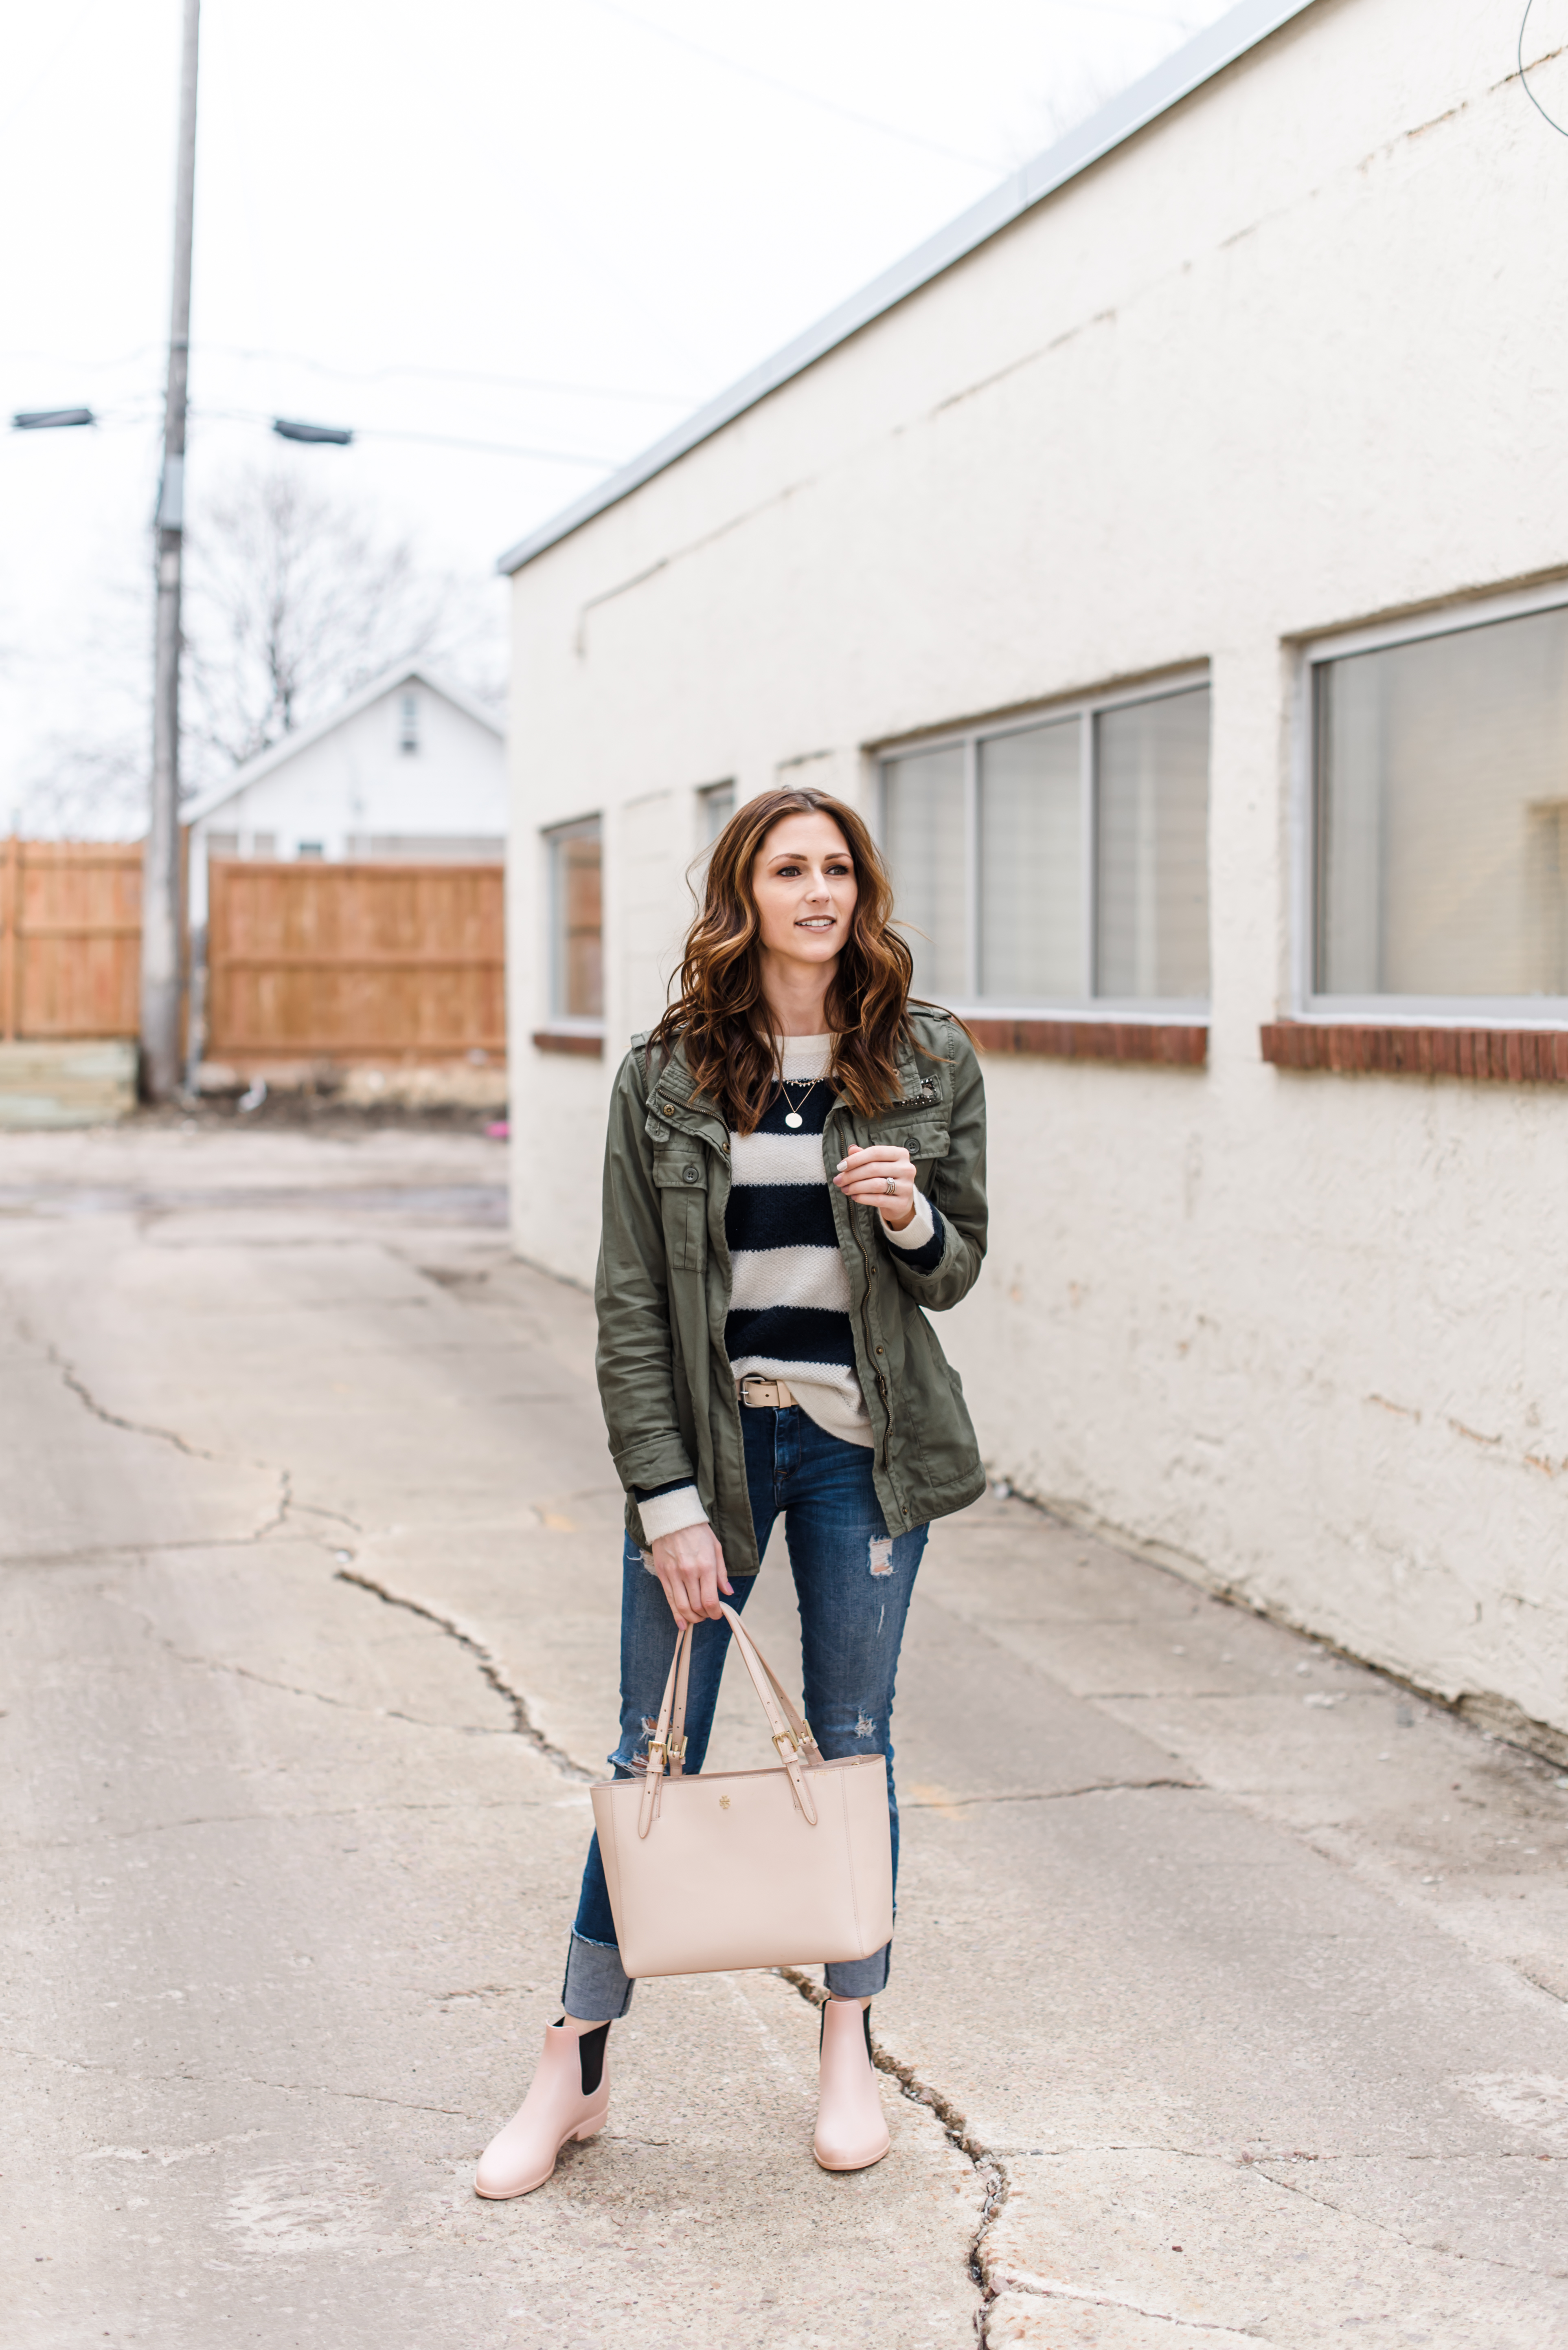
[[[822,1137],[838,1248],[850,1276],[854,1363],[876,1436],[890,1535],[965,1509],[986,1490],[958,1372],[927,1311],[967,1297],[986,1255],[986,1088],[951,1013],[911,1006],[899,1095],[861,1119],[838,1095]],[[730,1574],[756,1574],[742,1405],[725,1354],[730,1311],[730,1130],[692,1086],[683,1046],[648,1081],[634,1036],[610,1102],[599,1246],[599,1394],[627,1488],[627,1532],[646,1549],[634,1488],[695,1485]],[[941,1213],[930,1274],[887,1246],[876,1208],[831,1184],[852,1144],[901,1142]]]

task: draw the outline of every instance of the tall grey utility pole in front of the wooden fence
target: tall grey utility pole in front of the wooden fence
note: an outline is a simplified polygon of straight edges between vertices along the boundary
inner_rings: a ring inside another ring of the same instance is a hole
[[[174,181],[174,294],[164,477],[157,491],[157,639],[153,658],[153,804],[141,881],[141,1088],[169,1102],[181,1081],[181,555],[185,524],[185,383],[190,376],[190,235],[202,0],[185,0],[181,143]]]

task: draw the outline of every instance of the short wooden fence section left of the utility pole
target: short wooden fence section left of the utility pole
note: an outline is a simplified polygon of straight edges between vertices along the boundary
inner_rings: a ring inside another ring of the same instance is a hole
[[[0,1039],[134,1036],[141,841],[0,846]]]

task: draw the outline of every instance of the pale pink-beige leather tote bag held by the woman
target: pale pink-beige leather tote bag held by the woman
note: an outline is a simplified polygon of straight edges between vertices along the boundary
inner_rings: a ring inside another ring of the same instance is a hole
[[[892,1939],[887,1765],[824,1762],[735,1610],[723,1614],[779,1765],[685,1777],[688,1626],[648,1774],[592,1791],[620,1962],[638,1976],[871,1958]]]

